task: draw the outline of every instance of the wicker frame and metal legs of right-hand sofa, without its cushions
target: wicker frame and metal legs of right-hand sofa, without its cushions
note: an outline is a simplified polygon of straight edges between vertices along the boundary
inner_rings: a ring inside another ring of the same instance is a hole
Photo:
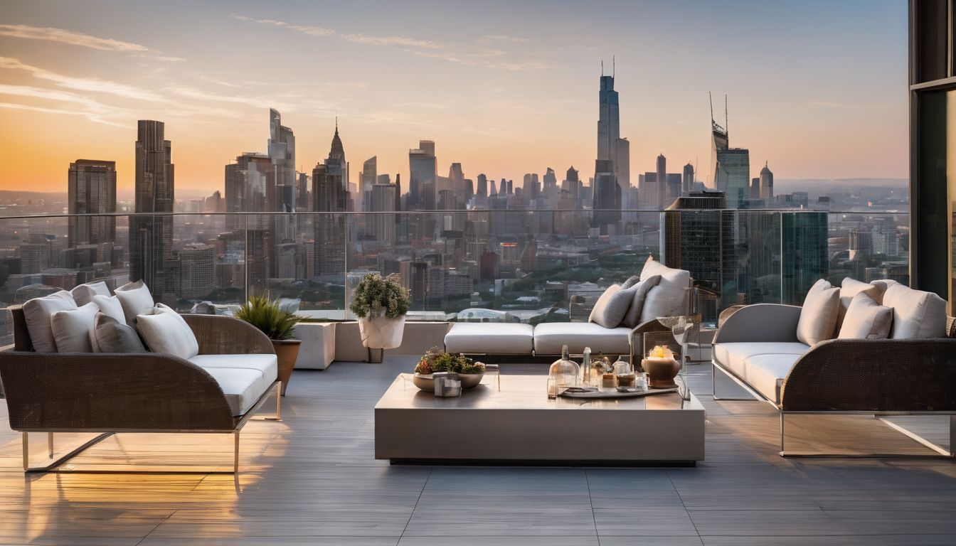
[[[796,341],[800,307],[754,304],[726,317],[713,343]],[[881,422],[931,448],[956,457],[956,339],[830,339],[817,343],[793,364],[780,388],[777,404],[720,362],[711,378],[714,400],[761,400],[780,415],[780,455],[784,457],[879,457],[895,453],[821,453],[788,451],[786,416],[795,414],[873,415]],[[720,371],[754,398],[720,397]],[[949,416],[949,447],[944,448],[887,418],[901,415]],[[922,455],[918,455],[922,456]]]

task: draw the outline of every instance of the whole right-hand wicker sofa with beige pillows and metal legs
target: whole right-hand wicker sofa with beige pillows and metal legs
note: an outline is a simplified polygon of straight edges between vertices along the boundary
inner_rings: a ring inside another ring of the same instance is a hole
[[[782,456],[827,455],[788,451],[787,415],[866,414],[953,457],[956,339],[949,338],[951,324],[938,295],[892,280],[847,278],[839,288],[820,280],[802,307],[754,304],[723,321],[713,340],[714,400],[753,400],[720,396],[716,372],[721,372],[776,408]],[[949,447],[887,419],[898,415],[948,416]]]

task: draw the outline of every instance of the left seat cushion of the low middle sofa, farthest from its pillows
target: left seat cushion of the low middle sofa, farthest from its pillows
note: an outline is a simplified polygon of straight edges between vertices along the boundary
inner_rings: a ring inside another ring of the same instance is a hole
[[[517,322],[455,322],[445,334],[445,351],[531,355],[534,329]]]

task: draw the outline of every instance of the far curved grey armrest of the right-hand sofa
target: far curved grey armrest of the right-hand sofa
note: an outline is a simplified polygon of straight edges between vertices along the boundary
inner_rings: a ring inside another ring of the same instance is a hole
[[[755,303],[728,317],[717,329],[713,342],[796,341],[799,320],[800,308],[795,305]]]

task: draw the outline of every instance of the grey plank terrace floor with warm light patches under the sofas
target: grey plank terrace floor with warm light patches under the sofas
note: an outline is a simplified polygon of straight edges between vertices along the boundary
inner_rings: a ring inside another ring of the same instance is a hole
[[[285,420],[244,430],[236,479],[25,476],[20,437],[0,403],[0,543],[956,544],[956,464],[782,459],[772,408],[714,402],[705,365],[691,372],[708,412],[706,462],[694,469],[390,467],[373,459],[373,406],[411,366],[390,358],[295,372]],[[929,453],[872,418],[794,418],[787,426],[788,448]],[[35,437],[41,457],[45,441]],[[60,446],[70,441],[57,435]],[[228,436],[127,434],[91,448],[76,467],[230,462]]]

